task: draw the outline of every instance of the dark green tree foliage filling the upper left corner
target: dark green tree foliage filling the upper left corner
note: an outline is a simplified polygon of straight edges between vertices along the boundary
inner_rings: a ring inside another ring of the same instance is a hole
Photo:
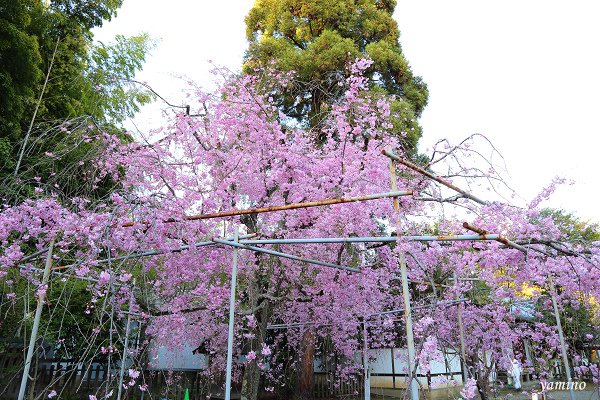
[[[0,6],[0,198],[19,202],[41,184],[58,195],[102,198],[113,184],[93,182],[86,161],[102,149],[89,136],[122,133],[123,120],[151,100],[132,79],[152,42],[146,34],[93,42],[91,29],[122,0],[9,3]]]

